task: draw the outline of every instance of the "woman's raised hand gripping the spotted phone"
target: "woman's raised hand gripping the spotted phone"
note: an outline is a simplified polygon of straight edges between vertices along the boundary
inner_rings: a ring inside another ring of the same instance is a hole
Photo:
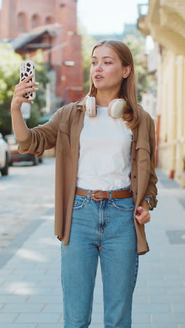
[[[31,78],[33,77],[32,75],[27,76],[23,81],[20,81],[15,86],[14,94],[13,94],[13,99],[11,102],[11,111],[20,111],[22,102],[27,102],[28,104],[33,104],[32,100],[29,100],[23,95],[25,93],[35,93],[36,90],[39,90],[39,88],[36,88],[36,86],[39,84],[39,82],[30,82]]]

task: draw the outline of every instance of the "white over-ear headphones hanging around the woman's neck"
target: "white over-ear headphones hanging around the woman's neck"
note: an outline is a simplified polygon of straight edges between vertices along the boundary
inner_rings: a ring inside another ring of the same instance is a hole
[[[109,116],[113,118],[123,117],[125,107],[125,100],[124,99],[114,99],[109,103],[107,108],[107,113]],[[96,108],[96,98],[90,97],[89,95],[86,97],[85,100],[85,114],[88,116],[96,116],[97,108]]]

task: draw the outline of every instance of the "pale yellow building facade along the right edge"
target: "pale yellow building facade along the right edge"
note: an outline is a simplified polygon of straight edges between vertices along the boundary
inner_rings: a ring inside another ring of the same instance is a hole
[[[185,187],[185,0],[142,6],[137,27],[158,43],[156,165]]]

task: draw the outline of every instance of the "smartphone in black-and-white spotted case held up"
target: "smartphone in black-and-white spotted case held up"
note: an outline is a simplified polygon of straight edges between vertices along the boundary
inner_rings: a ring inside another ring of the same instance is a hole
[[[27,60],[26,62],[21,62],[20,64],[20,81],[25,80],[27,76],[32,75],[32,78],[29,80],[29,82],[35,82],[35,64],[33,60]],[[34,100],[36,94],[35,93],[25,93],[23,97]]]

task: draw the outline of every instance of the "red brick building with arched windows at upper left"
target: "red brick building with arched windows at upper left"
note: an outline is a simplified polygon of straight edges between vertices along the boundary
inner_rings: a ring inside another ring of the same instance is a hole
[[[36,49],[43,50],[53,107],[83,96],[81,36],[76,27],[76,0],[2,0],[0,39],[11,42],[22,57],[29,53],[34,59]]]

